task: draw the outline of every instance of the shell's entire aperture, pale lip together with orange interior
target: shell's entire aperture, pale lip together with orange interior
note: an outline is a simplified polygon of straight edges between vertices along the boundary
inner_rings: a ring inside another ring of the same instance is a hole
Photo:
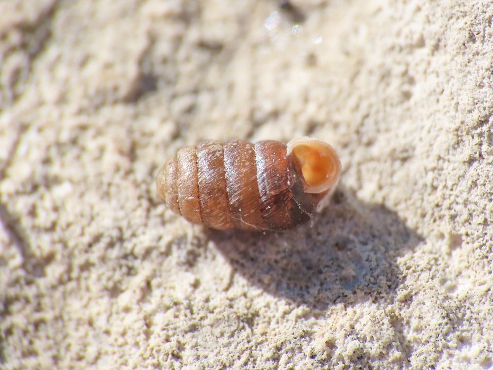
[[[287,150],[298,174],[303,177],[307,193],[321,193],[337,183],[341,162],[327,143],[309,138],[294,139],[288,143]]]

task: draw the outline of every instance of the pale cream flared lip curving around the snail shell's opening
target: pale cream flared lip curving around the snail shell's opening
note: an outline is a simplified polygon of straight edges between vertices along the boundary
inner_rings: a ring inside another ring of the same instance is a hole
[[[293,139],[289,143],[287,143],[287,155],[288,156],[291,155],[293,149],[298,145],[306,145],[312,148],[316,148],[317,150],[320,150],[326,156],[330,157],[330,159],[332,160],[332,164],[334,166],[333,173],[330,174],[330,176],[327,176],[326,180],[323,181],[322,184],[317,186],[307,184],[305,182],[305,179],[301,176],[304,190],[307,193],[312,193],[312,194],[322,193],[324,191],[328,191],[329,193],[332,193],[332,191],[335,189],[335,186],[337,185],[337,182],[339,181],[339,177],[341,174],[341,161],[334,148],[332,148],[331,145],[321,140],[313,139],[305,136],[305,137]]]

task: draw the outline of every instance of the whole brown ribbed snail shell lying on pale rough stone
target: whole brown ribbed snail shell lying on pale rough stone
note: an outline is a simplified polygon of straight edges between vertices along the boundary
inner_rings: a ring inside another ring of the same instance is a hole
[[[187,221],[214,229],[282,230],[310,220],[335,188],[341,162],[316,139],[206,141],[159,170],[159,197]]]

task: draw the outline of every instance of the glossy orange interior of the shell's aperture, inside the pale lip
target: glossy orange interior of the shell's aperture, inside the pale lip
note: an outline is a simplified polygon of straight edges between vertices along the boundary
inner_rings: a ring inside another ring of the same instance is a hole
[[[327,181],[334,172],[332,158],[317,147],[304,144],[293,148],[305,182],[311,187],[318,187]]]

